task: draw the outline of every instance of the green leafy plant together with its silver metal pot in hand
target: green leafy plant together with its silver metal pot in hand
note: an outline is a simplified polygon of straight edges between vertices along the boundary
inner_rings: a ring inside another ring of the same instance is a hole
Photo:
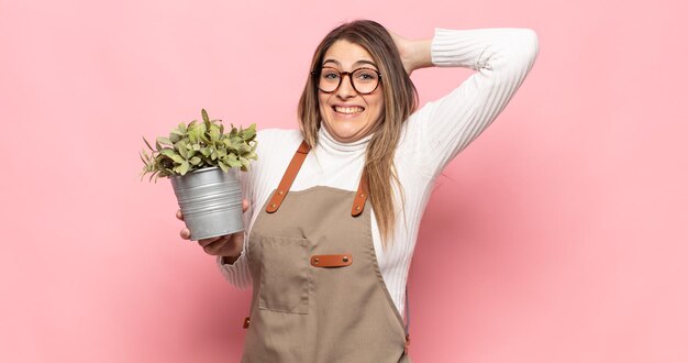
[[[141,152],[142,179],[168,177],[184,221],[198,241],[242,231],[242,193],[237,169],[247,170],[256,160],[256,125],[224,132],[221,120],[184,122],[168,138],[157,138],[155,147],[143,138],[149,152]]]

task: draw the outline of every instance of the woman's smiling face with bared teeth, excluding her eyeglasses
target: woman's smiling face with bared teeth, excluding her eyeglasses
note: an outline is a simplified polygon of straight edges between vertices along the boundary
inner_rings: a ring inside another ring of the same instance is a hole
[[[322,67],[353,72],[365,67],[379,72],[370,54],[360,45],[337,41],[325,53]],[[318,91],[322,127],[339,142],[349,143],[370,134],[380,122],[385,109],[382,82],[369,95],[360,95],[353,87],[349,75],[343,76],[332,94]]]

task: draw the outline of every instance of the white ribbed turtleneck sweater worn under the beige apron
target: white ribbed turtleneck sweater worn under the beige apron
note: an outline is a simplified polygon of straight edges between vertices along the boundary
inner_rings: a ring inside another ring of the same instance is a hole
[[[391,248],[382,250],[379,229],[371,216],[373,243],[387,288],[400,314],[421,217],[435,177],[503,110],[530,72],[539,45],[529,29],[435,30],[431,55],[435,66],[477,70],[445,97],[429,102],[409,117],[395,154],[403,187],[403,209],[397,198],[397,220]],[[301,143],[298,130],[263,130],[257,135],[259,160],[242,173],[249,208],[244,215],[246,240],[257,212],[277,188],[287,165]],[[370,136],[354,143],[335,141],[320,129],[318,145],[309,153],[290,190],[329,186],[356,190]],[[373,210],[373,209],[370,209]],[[251,285],[246,251],[220,270],[238,288]]]

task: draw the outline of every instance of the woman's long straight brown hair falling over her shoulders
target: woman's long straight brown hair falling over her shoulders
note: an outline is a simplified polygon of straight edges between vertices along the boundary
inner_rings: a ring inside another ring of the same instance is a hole
[[[403,200],[403,189],[395,168],[395,151],[401,124],[418,106],[418,92],[403,68],[391,35],[382,25],[370,20],[353,21],[332,30],[315,48],[311,73],[319,74],[325,53],[332,44],[341,40],[364,47],[382,75],[380,81],[385,110],[381,120],[371,131],[373,136],[366,150],[364,175],[367,177],[368,200],[375,211],[382,245],[387,246],[388,241],[393,239],[396,222],[392,183],[398,187]],[[318,130],[321,128],[322,117],[319,110],[318,82],[311,73],[299,100],[298,117],[303,140],[313,147],[318,144]]]

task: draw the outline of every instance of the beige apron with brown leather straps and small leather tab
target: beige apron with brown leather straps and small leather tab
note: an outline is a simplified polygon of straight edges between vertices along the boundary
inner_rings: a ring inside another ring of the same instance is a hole
[[[365,176],[358,191],[289,191],[308,152],[302,143],[248,239],[253,299],[242,362],[410,362],[377,264]]]

